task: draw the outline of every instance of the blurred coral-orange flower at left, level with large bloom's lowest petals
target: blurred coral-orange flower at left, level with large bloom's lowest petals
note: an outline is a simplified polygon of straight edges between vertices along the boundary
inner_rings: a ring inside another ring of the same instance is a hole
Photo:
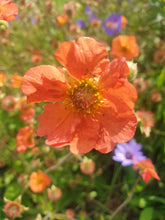
[[[20,128],[16,136],[17,152],[24,153],[35,145],[35,129],[32,125]]]

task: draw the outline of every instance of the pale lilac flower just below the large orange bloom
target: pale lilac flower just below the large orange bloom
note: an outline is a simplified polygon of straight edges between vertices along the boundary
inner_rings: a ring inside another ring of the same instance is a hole
[[[128,143],[117,144],[114,150],[113,160],[121,162],[122,166],[129,166],[135,164],[132,160],[134,157],[137,161],[146,159],[143,153],[140,151],[142,148],[141,144],[137,144],[134,139],[130,140]]]

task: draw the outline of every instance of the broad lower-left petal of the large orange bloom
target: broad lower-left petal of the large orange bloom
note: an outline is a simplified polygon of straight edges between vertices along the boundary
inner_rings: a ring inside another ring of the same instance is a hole
[[[38,121],[38,136],[46,135],[47,145],[62,147],[72,141],[80,118],[62,103],[50,103],[45,105],[45,111],[39,116]]]

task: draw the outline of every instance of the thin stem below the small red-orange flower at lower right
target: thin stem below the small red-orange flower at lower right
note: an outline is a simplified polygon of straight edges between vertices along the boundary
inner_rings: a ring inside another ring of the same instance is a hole
[[[113,214],[111,215],[111,217],[109,218],[109,220],[112,220],[112,219],[118,214],[118,212],[120,212],[120,211],[122,210],[122,208],[123,208],[124,206],[126,206],[126,205],[129,203],[129,201],[132,199],[132,196],[133,196],[133,194],[134,194],[135,188],[136,188],[136,186],[137,186],[137,184],[138,184],[140,178],[141,178],[141,176],[139,175],[138,178],[137,178],[137,180],[136,180],[136,182],[135,182],[135,184],[134,184],[133,187],[132,187],[132,190],[131,190],[131,192],[130,192],[128,198],[127,198],[123,203],[121,203],[120,206],[117,207],[117,209],[113,212]]]

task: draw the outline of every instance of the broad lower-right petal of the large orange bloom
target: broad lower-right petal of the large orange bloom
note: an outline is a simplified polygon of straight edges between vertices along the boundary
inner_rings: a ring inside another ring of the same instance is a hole
[[[111,97],[109,106],[103,107],[96,117],[113,143],[125,143],[134,136],[137,118],[124,102],[118,102],[115,97]]]

